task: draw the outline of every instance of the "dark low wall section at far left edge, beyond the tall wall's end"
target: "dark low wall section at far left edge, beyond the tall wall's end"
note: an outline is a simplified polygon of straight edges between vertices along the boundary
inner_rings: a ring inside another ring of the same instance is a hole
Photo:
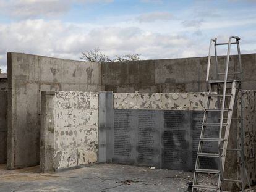
[[[0,164],[7,159],[7,91],[0,91]]]

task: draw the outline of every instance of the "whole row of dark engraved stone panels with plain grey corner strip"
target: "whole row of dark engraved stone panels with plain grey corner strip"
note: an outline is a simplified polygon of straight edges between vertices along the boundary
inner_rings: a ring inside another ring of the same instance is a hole
[[[105,94],[105,93],[104,93]],[[99,160],[192,171],[202,129],[203,111],[113,109],[113,94],[100,97]],[[102,101],[101,101],[102,100]],[[218,122],[211,113],[208,122]],[[218,138],[218,127],[207,127],[206,137]],[[203,151],[217,151],[217,143],[204,143]],[[213,169],[218,159],[202,159]]]

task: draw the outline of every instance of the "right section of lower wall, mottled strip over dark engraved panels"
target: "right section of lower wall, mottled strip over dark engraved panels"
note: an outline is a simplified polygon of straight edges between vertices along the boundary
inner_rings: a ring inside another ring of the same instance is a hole
[[[100,103],[104,98],[106,105],[99,109],[101,161],[194,170],[206,93],[114,93],[112,98],[111,92],[100,92]],[[218,114],[209,119],[218,122]],[[208,129],[207,136],[217,138],[218,130]],[[203,150],[216,147],[207,143]],[[216,167],[218,159],[203,159],[203,166]]]

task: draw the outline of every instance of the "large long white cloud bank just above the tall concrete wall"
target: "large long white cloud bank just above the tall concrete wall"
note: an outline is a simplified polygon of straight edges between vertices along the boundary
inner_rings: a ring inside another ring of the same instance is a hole
[[[22,20],[0,24],[0,68],[7,52],[79,59],[82,51],[100,47],[109,56],[142,54],[143,59],[181,57],[191,41],[174,33],[153,33],[140,27],[92,27],[59,20]]]

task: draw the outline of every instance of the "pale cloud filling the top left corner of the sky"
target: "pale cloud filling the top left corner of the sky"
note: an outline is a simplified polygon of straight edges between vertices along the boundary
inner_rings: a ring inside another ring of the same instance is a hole
[[[110,3],[113,0],[4,0],[0,2],[0,12],[18,19],[34,19],[64,14],[72,3]]]

